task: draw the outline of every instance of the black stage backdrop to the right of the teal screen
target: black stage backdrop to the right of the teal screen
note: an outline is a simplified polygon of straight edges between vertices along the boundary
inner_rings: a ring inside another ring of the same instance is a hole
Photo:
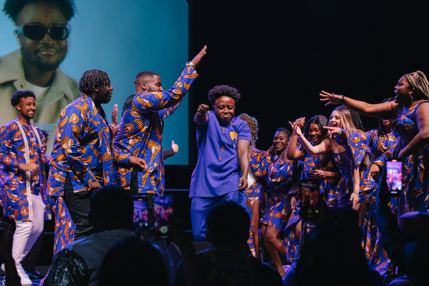
[[[429,75],[428,1],[188,2],[190,59],[208,46],[191,88],[190,124],[198,105],[209,104],[208,90],[229,84],[242,94],[236,114],[257,118],[263,150],[278,127],[290,129],[287,121],[329,116],[322,89],[378,103],[394,96],[404,73]],[[377,127],[361,118],[365,130]],[[166,166],[166,188],[189,188],[193,152],[190,166]]]

